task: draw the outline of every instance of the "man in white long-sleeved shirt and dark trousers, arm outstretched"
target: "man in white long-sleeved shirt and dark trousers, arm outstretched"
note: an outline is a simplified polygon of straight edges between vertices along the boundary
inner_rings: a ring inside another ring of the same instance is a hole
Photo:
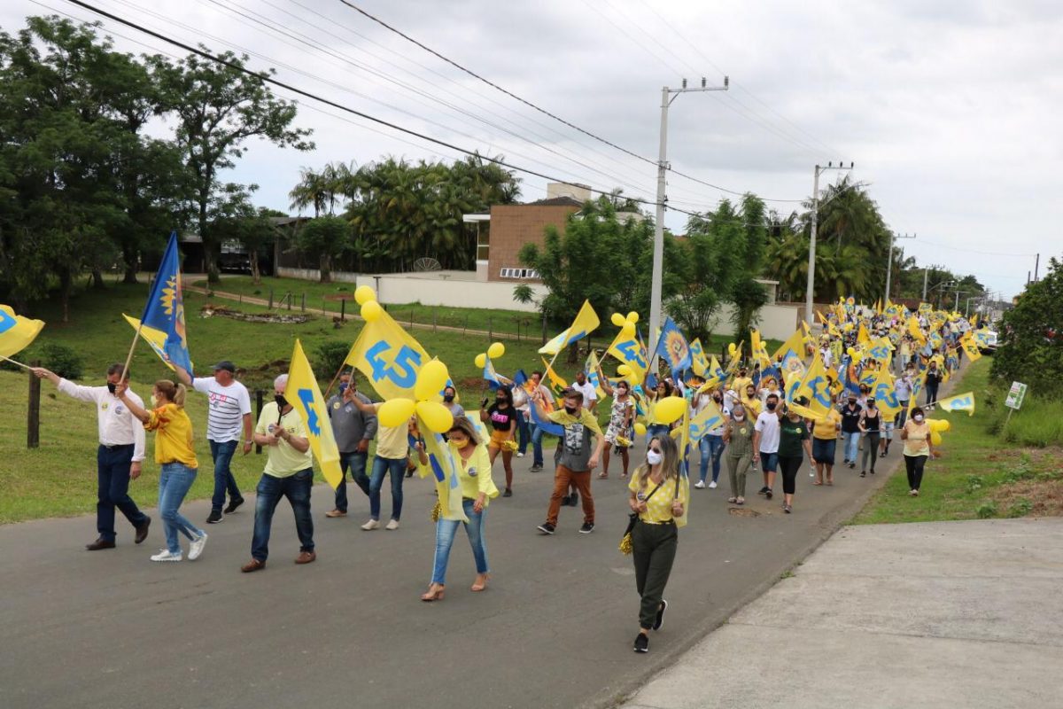
[[[100,448],[96,454],[96,529],[100,536],[91,544],[85,545],[90,552],[115,547],[115,507],[122,511],[136,529],[134,541],[137,544],[148,537],[148,527],[151,525],[151,518],[140,511],[129,494],[130,480],[140,476],[145,435],[140,422],[115,396],[115,387],[121,381],[122,369],[120,364],[108,367],[107,383],[102,387],[77,385],[43,367],[31,370],[38,377],[54,384],[63,393],[96,405],[100,432]],[[129,382],[128,371],[125,382]],[[132,390],[126,390],[125,395],[137,406],[144,407],[144,401]]]

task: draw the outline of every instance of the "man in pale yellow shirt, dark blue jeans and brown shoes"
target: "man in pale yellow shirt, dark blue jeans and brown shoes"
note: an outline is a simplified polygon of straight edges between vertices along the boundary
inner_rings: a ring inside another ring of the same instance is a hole
[[[266,449],[266,470],[258,480],[255,500],[255,530],[251,539],[251,560],[240,568],[250,573],[266,568],[273,512],[281,497],[287,497],[296,514],[299,556],[296,563],[310,563],[314,551],[314,520],[310,518],[310,487],[314,485],[314,455],[303,418],[284,396],[288,375],[273,381],[273,401],[263,407],[254,441]]]

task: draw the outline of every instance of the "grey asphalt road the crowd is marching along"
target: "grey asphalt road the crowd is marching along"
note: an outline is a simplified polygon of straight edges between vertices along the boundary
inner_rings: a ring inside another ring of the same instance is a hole
[[[545,537],[536,525],[552,475],[528,472],[530,456],[514,458],[514,496],[489,508],[489,589],[469,591],[474,568],[459,531],[446,598],[431,604],[418,596],[432,572],[434,490],[418,477],[406,480],[394,531],[358,528],[368,501],[353,485],[353,513],[325,519],[332,491],[315,488],[318,560],[305,567],[292,563],[298,540],[282,501],[269,565],[253,574],[239,571],[250,558],[251,495],[206,527],[195,562],[148,560],[163,545],[154,510],[142,545],[120,518],[118,547],[102,552],[83,548],[96,537],[92,517],[0,527],[0,706],[610,706],[774,584],[899,458],[894,445],[875,477],[838,470],[833,487],[813,487],[806,463],[793,514],[782,513],[781,494],[756,494],[759,473],[744,516],[726,504],[726,469],[720,488],[692,490],[668,619],[648,655],[631,652],[638,596],[630,557],[617,550],[627,506],[615,459],[609,479],[593,480],[594,533],[578,534],[581,511],[562,508],[557,535]],[[208,504],[183,511],[199,523]],[[706,681],[711,666],[705,658]]]

